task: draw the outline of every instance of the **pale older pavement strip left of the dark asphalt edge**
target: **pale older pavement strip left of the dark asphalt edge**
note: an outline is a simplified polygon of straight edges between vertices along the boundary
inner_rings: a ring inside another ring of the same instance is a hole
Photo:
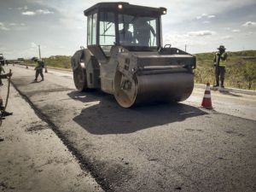
[[[7,80],[1,93],[5,98]],[[81,168],[51,127],[11,86],[7,111],[0,120],[0,191],[2,192],[102,192]],[[4,99],[5,101],[5,99]]]

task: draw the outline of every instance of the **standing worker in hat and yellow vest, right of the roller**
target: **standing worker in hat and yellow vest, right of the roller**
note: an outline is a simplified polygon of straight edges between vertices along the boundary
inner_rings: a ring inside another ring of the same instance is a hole
[[[213,63],[215,67],[215,79],[216,79],[216,84],[213,87],[219,86],[219,79],[220,79],[220,85],[222,88],[224,88],[224,75],[225,75],[227,58],[228,58],[228,54],[225,52],[224,45],[220,45],[218,48],[218,52],[214,55],[214,59],[213,59]]]

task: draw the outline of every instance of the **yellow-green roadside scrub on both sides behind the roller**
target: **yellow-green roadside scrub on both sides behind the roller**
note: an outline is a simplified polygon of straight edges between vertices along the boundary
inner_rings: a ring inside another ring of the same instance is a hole
[[[195,83],[215,84],[212,53],[196,54],[197,67],[195,69]],[[224,85],[239,89],[256,90],[256,50],[228,52],[226,75]],[[71,56],[55,55],[44,58],[49,67],[71,68]],[[33,61],[26,60],[27,64],[35,65]]]

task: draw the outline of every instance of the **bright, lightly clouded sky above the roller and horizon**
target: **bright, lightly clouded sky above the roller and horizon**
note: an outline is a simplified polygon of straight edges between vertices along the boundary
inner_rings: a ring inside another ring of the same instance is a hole
[[[0,0],[0,53],[7,59],[73,55],[86,45],[84,9],[96,0]],[[111,2],[108,0],[107,2]],[[190,53],[256,49],[255,0],[148,0],[131,4],[166,7],[164,44]]]

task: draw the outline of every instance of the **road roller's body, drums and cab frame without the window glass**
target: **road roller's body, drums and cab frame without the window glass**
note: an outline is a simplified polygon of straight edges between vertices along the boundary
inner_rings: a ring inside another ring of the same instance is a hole
[[[194,88],[195,56],[162,45],[161,15],[165,8],[148,8],[122,3],[97,3],[84,15],[97,14],[96,43],[78,50],[72,57],[74,83],[78,90],[99,89],[112,94],[121,107],[131,108],[150,102],[182,102]],[[107,53],[99,44],[100,12],[112,12],[115,22],[119,14],[155,17],[159,37],[158,47],[121,46],[119,26],[115,23],[116,43]],[[140,13],[140,14],[138,14]],[[78,81],[78,79],[81,79]],[[79,83],[80,84],[79,84]]]

